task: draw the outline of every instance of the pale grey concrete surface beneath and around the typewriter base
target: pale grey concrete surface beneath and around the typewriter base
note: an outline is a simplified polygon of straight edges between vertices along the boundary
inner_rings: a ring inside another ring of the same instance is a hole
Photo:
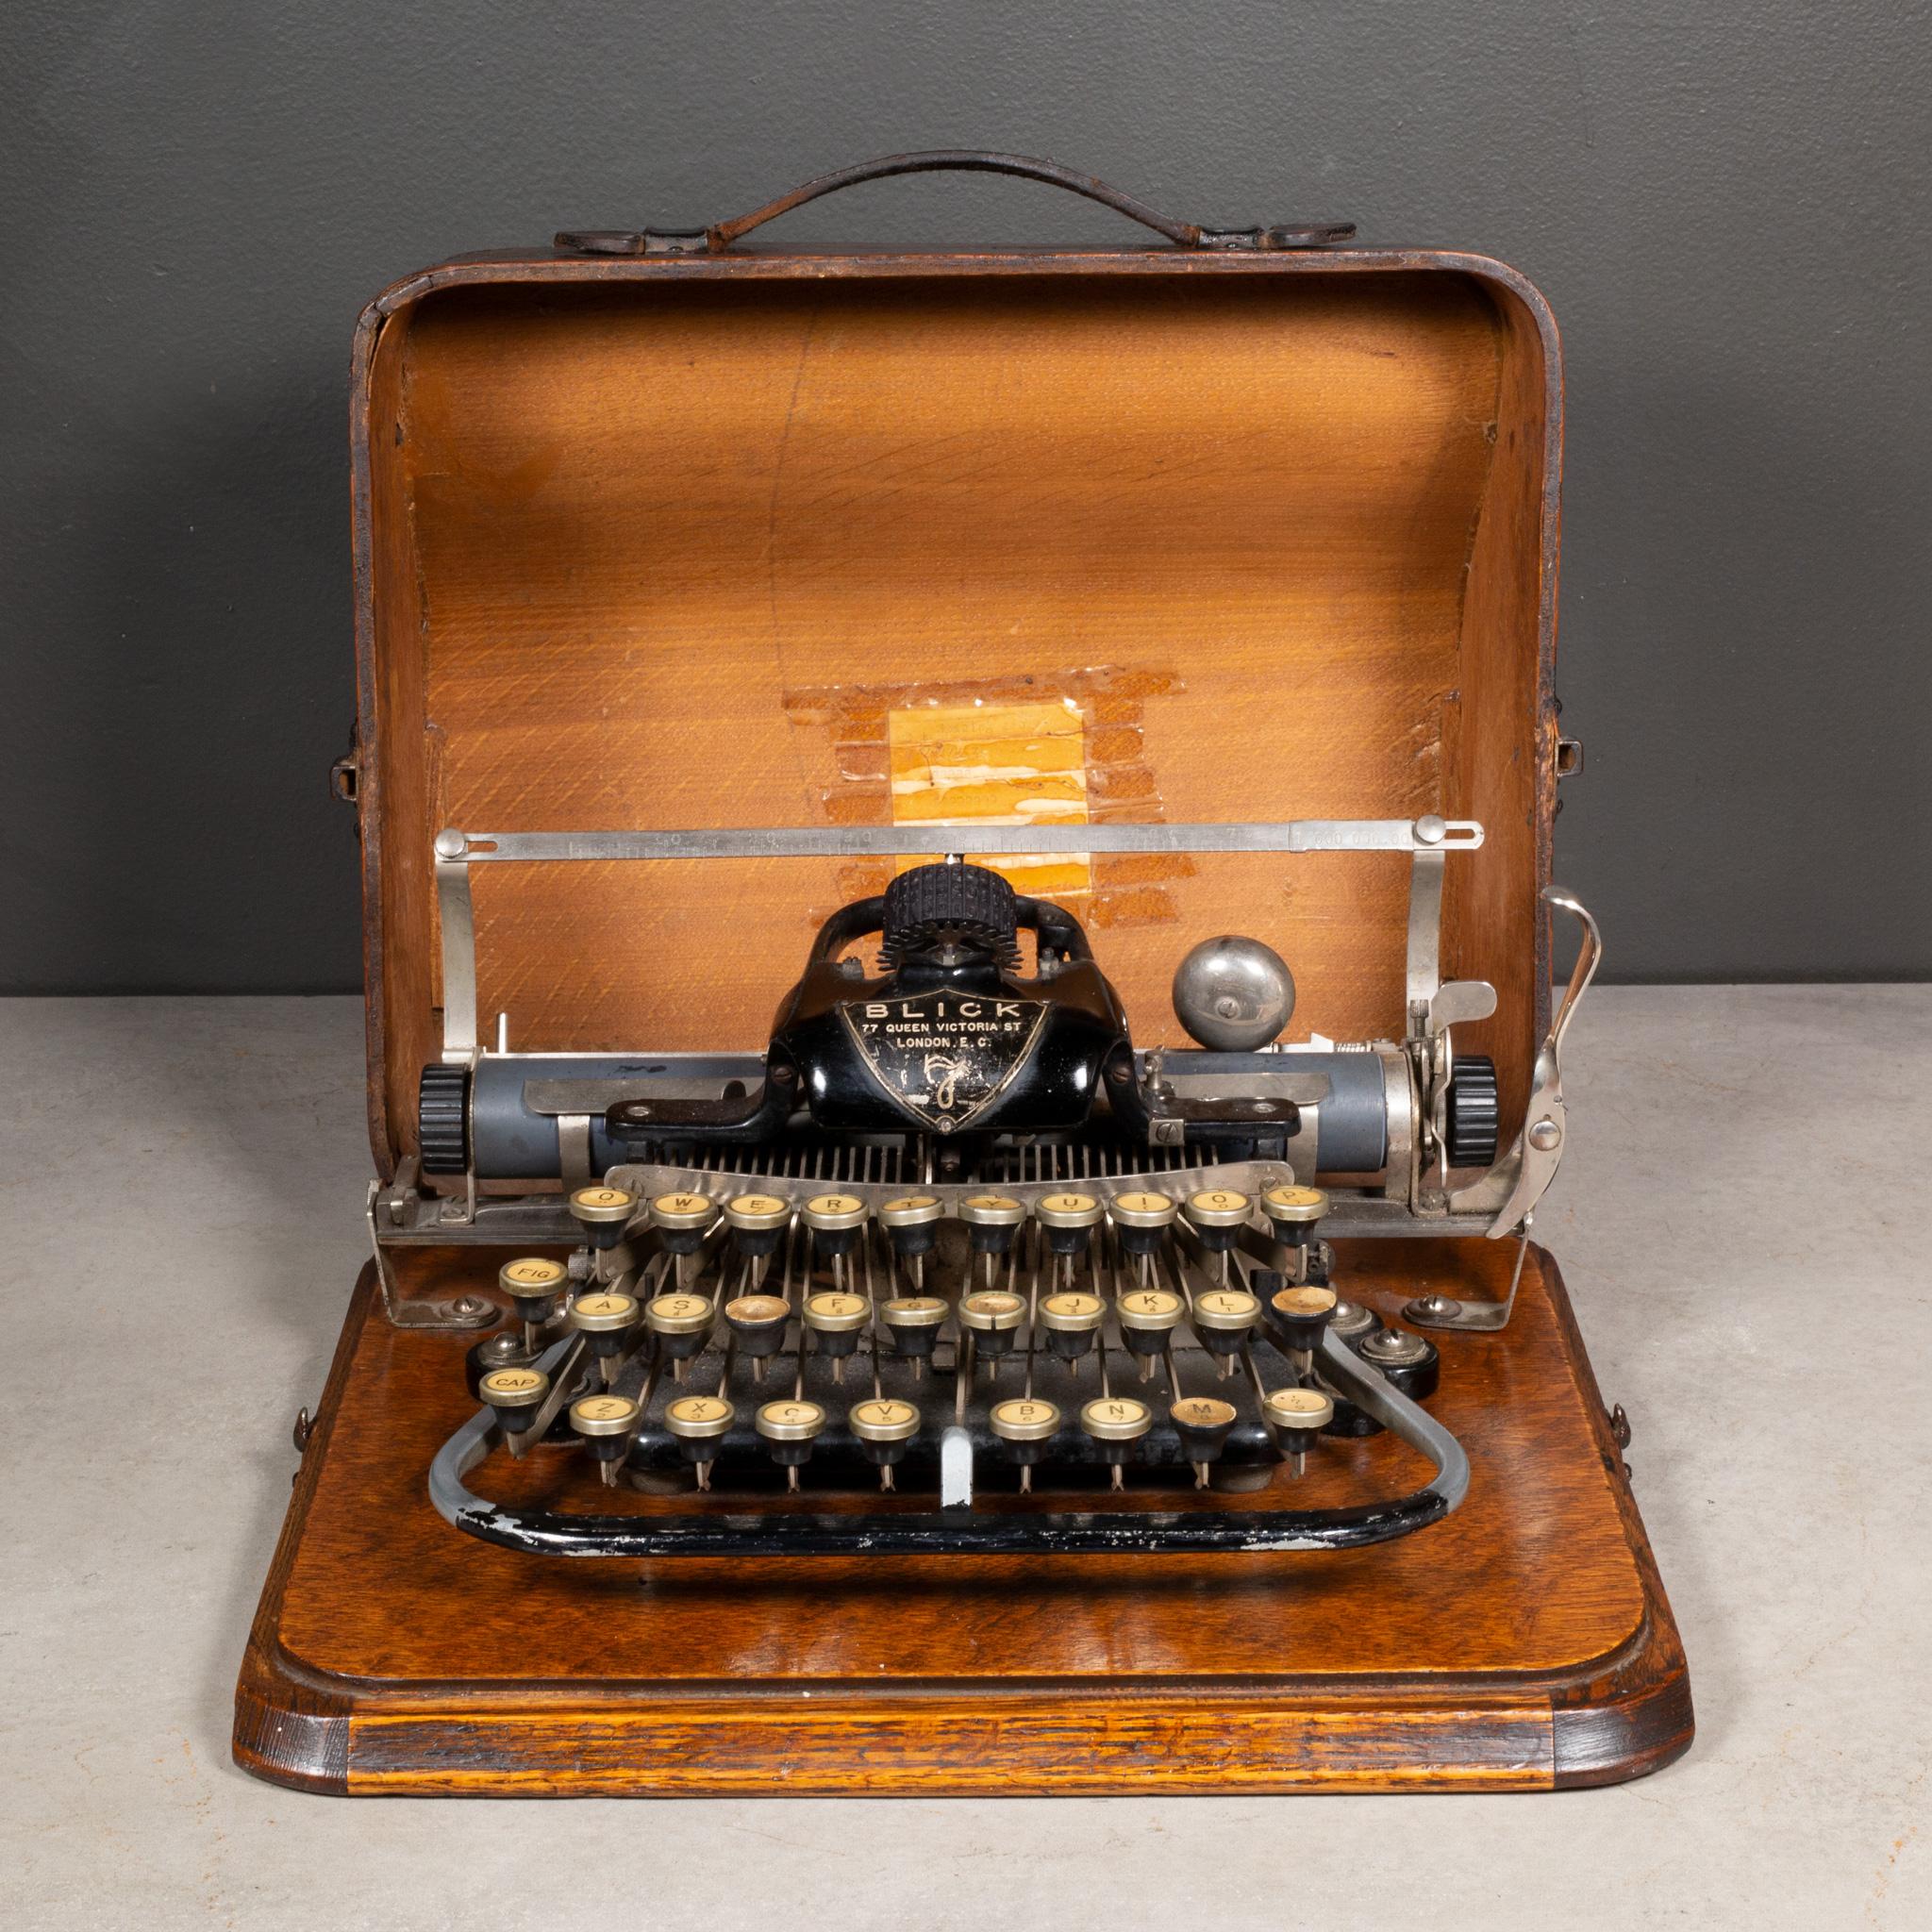
[[[288,1424],[363,1260],[361,1009],[0,1005],[0,1918],[1928,1926],[1928,1039],[1932,987],[1607,989],[1580,1014],[1538,1233],[1633,1416],[1690,1654],[1698,1741],[1648,1781],[352,1803],[236,1772],[228,1718]]]

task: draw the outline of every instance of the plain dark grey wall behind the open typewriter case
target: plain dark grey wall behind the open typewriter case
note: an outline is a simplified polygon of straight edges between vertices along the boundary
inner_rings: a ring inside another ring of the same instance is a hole
[[[0,985],[357,983],[325,767],[369,294],[949,145],[1526,270],[1569,350],[1590,753],[1557,869],[1611,972],[1922,976],[1928,54],[1897,0],[12,0]],[[788,232],[1132,230],[927,178]]]

